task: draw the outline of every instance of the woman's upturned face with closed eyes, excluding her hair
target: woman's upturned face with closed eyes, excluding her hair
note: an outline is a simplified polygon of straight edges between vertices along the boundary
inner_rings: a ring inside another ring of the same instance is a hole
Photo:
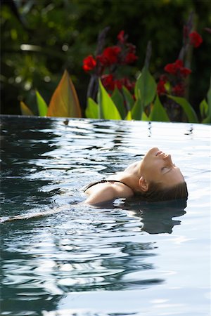
[[[159,183],[161,187],[172,187],[184,182],[184,176],[172,162],[170,154],[165,154],[157,147],[151,148],[141,162],[141,176],[148,183]]]

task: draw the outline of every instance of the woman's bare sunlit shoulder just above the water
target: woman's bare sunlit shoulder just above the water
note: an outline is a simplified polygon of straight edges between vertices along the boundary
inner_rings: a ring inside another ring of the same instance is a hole
[[[132,190],[122,183],[98,183],[87,190],[87,195],[89,197],[87,197],[85,202],[94,205],[108,202],[118,197],[130,197],[133,194]]]

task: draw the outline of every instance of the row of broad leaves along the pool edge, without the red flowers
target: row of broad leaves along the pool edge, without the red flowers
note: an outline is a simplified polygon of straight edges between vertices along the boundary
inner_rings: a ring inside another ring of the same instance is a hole
[[[120,93],[117,89],[113,91],[113,95],[109,96],[106,88],[103,87],[101,81],[99,81],[99,91],[98,91],[98,103],[93,99],[89,98],[87,102],[86,115],[91,119],[125,119],[125,120],[142,120],[142,121],[170,121],[170,118],[167,115],[165,107],[160,103],[160,98],[158,93],[154,93],[153,99],[146,102],[145,95],[141,97],[141,86],[147,85],[147,78],[151,77],[146,67],[143,67],[144,75],[141,75],[136,81],[136,101],[129,108],[128,112],[123,112],[122,107],[124,103],[120,105],[118,103],[118,98],[114,98],[115,93]],[[141,79],[142,78],[142,79]],[[153,77],[152,77],[153,78]],[[153,81],[151,81],[153,82]],[[155,83],[153,83],[154,85]],[[127,91],[127,88],[124,87],[124,93]],[[79,102],[77,95],[75,93],[75,88],[72,84],[72,81],[68,75],[68,72],[65,70],[56,91],[53,93],[51,98],[51,103],[49,107],[46,106],[44,99],[40,96],[37,91],[37,106],[39,107],[40,116],[58,116],[58,117],[81,117],[81,112],[79,108]],[[130,96],[132,100],[132,95],[129,91],[126,93],[127,98]],[[119,95],[120,96],[120,95]],[[193,107],[188,103],[185,98],[168,96],[174,100],[178,105],[182,107],[186,113],[186,117],[191,123],[198,123],[198,117],[196,112],[193,110]],[[117,100],[115,103],[114,100]],[[148,99],[150,100],[150,99]],[[33,115],[25,103],[20,102],[20,107],[23,115]],[[203,123],[211,123],[211,80],[210,88],[207,92],[207,100],[203,100],[200,103],[201,116],[203,117]],[[123,115],[121,113],[124,113]]]

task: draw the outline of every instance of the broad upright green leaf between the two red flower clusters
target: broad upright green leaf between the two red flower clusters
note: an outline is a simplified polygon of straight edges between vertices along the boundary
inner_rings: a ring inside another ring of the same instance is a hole
[[[151,102],[153,102],[155,98],[156,90],[157,90],[157,84],[155,82],[155,79],[151,75],[151,73],[146,68],[146,66],[143,67],[141,75],[136,80],[136,85],[135,85],[136,99],[138,98],[138,90],[140,90],[140,93],[141,93],[141,105],[143,107],[146,107]]]

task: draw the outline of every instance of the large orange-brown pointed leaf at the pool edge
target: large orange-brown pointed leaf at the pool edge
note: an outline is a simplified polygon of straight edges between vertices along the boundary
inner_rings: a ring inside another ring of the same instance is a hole
[[[47,115],[49,117],[82,117],[77,93],[67,70],[63,73],[53,93]]]

